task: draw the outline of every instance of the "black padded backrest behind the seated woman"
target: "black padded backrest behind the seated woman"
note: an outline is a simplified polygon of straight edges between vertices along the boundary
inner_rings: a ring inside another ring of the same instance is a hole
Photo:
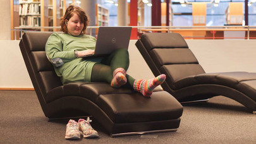
[[[52,32],[26,32],[20,40],[20,50],[39,102],[44,110],[46,93],[63,85],[46,57],[45,45]]]

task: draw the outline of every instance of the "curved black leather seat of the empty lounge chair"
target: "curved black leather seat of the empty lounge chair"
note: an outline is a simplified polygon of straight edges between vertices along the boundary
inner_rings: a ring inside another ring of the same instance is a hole
[[[190,87],[193,85],[223,85],[234,88],[256,100],[256,73],[248,72],[226,72],[226,73],[204,73],[200,75],[187,76],[175,81],[174,90]]]

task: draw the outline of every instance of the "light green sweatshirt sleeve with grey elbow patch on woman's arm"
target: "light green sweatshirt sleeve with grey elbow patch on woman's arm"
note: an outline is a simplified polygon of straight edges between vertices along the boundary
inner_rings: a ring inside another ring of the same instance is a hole
[[[63,43],[58,33],[52,33],[46,42],[46,56],[56,67],[75,59],[74,51],[63,51]]]

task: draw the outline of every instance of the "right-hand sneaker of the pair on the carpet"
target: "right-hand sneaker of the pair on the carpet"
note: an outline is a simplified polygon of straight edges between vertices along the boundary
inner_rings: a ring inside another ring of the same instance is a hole
[[[90,117],[87,117],[86,121],[85,119],[78,120],[79,130],[83,131],[83,138],[99,138],[97,131],[90,126],[90,122],[92,122]]]

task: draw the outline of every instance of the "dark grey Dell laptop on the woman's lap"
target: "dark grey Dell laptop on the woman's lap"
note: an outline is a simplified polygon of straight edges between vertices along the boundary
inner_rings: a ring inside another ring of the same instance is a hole
[[[111,54],[119,48],[128,49],[131,27],[99,27],[94,54],[84,57],[97,57]]]

